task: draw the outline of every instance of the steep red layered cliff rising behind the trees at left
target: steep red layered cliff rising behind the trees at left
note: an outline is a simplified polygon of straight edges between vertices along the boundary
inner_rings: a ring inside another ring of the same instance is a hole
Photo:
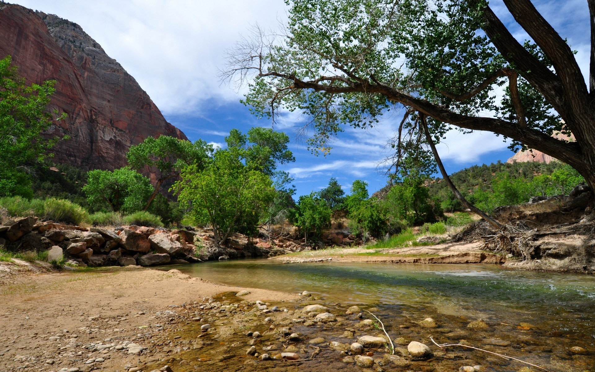
[[[71,139],[52,149],[54,161],[111,170],[126,165],[130,146],[148,136],[187,139],[76,23],[0,2],[0,58],[7,55],[28,83],[56,80],[50,108],[68,117],[48,136]]]

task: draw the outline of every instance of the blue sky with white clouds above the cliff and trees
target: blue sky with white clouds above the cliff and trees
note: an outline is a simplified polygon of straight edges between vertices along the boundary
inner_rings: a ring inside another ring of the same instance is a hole
[[[10,0],[35,10],[74,21],[136,78],[165,118],[190,140],[223,143],[232,128],[270,126],[256,120],[239,103],[241,92],[222,85],[217,68],[224,50],[251,24],[276,28],[286,18],[283,0]],[[586,0],[534,1],[538,10],[578,51],[577,60],[588,68],[589,28]],[[491,6],[519,40],[527,39],[500,0]],[[384,145],[392,137],[397,117],[386,117],[370,130],[346,129],[327,157],[316,157],[295,140],[295,127],[276,128],[292,136],[296,162],[285,169],[295,177],[297,194],[318,190],[336,177],[344,187],[355,179],[369,183],[373,192],[386,178],[378,163],[387,155]],[[452,131],[439,145],[447,171],[473,164],[506,161],[512,152],[502,138],[491,133],[461,135]]]

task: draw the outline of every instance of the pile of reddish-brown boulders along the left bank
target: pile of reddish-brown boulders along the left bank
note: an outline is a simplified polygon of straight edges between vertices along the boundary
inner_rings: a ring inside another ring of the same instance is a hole
[[[72,264],[141,265],[206,261],[197,252],[195,233],[145,226],[115,229],[65,226],[36,217],[13,218],[0,226],[0,248],[9,251],[45,251],[52,260]]]

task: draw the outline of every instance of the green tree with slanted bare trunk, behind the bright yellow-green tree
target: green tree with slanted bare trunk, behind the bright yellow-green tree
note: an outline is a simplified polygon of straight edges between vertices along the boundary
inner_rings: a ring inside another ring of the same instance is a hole
[[[139,145],[131,146],[126,154],[130,167],[138,171],[143,168],[157,168],[159,171],[155,191],[149,196],[143,210],[147,210],[162,184],[177,177],[181,168],[195,164],[198,169],[205,167],[213,147],[199,139],[195,143],[171,136],[147,137]]]

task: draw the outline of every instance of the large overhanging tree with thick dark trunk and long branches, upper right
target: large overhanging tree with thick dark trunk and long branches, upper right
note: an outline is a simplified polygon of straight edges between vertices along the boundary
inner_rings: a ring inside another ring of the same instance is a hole
[[[594,187],[595,0],[589,86],[530,0],[503,2],[533,40],[519,43],[484,0],[290,1],[282,32],[255,27],[228,52],[221,77],[249,83],[243,102],[259,117],[304,112],[313,151],[326,152],[346,124],[372,126],[405,107],[399,149],[407,137],[424,140],[417,118],[427,117],[434,141],[452,128],[497,133],[566,162]],[[552,137],[558,130],[575,141]]]

